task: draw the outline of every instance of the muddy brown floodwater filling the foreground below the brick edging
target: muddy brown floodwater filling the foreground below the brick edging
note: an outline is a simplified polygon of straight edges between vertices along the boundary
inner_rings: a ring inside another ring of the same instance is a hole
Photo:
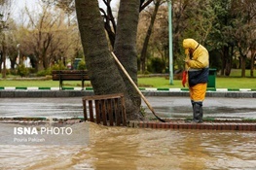
[[[255,132],[139,129],[86,123],[90,124],[88,146],[0,145],[0,169],[256,169]]]

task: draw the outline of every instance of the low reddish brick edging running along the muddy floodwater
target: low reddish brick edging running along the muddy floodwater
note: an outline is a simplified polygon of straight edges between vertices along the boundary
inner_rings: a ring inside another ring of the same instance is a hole
[[[55,123],[74,124],[81,122],[82,119],[55,120]],[[49,123],[49,120],[24,120],[24,119],[0,119],[0,123],[19,123],[19,124],[41,124]],[[101,123],[102,124],[102,123]],[[256,131],[256,122],[242,121],[204,121],[201,123],[188,122],[185,120],[171,120],[168,122],[160,121],[128,121],[131,128],[153,128],[153,129],[197,129],[197,130],[237,130],[237,131]]]

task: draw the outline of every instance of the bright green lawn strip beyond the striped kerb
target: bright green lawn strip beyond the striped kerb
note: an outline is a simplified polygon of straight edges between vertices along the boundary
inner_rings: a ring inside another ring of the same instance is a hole
[[[64,81],[64,86],[75,87],[81,86],[79,81]],[[85,82],[86,86],[91,86],[90,82]],[[152,77],[152,78],[138,78],[139,87],[166,87],[166,88],[181,88],[181,80],[174,80],[173,85],[169,85],[169,80],[165,77]],[[16,86],[16,87],[26,87],[26,86],[38,86],[38,87],[57,87],[58,82],[52,80],[46,81],[27,81],[27,80],[1,80],[0,87],[4,86]],[[216,78],[217,88],[251,88],[256,89],[256,78]]]

